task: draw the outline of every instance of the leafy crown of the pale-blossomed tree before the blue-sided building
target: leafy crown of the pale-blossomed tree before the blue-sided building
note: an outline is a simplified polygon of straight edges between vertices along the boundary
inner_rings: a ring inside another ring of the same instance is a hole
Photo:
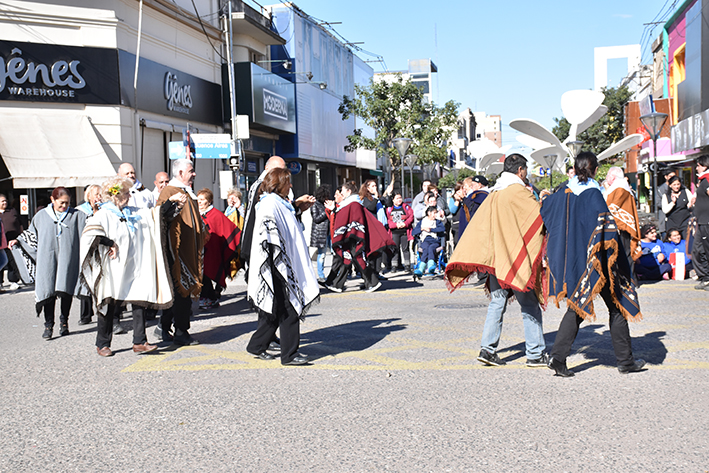
[[[357,128],[347,136],[345,151],[376,150],[396,170],[402,163],[393,140],[411,138],[409,154],[417,155],[419,164],[445,163],[445,143],[456,124],[458,105],[452,100],[443,107],[424,103],[421,89],[400,74],[393,82],[370,79],[366,87],[355,84],[355,96],[344,96],[338,111],[343,120],[357,116],[374,129],[375,136],[368,138]],[[394,173],[395,179],[398,175]]]

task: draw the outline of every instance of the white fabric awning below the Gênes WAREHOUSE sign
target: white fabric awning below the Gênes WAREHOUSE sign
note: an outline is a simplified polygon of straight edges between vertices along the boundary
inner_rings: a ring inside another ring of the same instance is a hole
[[[83,187],[116,175],[79,110],[0,108],[0,156],[15,188]]]

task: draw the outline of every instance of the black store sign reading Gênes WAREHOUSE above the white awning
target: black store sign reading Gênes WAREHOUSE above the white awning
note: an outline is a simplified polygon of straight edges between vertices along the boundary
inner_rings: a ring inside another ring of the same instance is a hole
[[[118,51],[0,41],[0,100],[118,104]]]

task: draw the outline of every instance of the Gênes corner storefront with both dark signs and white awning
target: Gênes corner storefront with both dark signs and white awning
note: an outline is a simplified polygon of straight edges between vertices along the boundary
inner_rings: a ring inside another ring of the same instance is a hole
[[[0,191],[34,208],[64,186],[78,203],[122,162],[152,187],[187,123],[221,129],[219,84],[141,58],[134,89],[135,65],[118,49],[0,41]],[[223,163],[202,166],[195,187],[213,187]]]

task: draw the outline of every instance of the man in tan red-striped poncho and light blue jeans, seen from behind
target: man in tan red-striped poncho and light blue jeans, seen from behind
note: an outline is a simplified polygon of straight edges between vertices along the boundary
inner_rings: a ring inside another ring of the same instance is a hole
[[[474,272],[489,275],[490,305],[478,360],[486,365],[505,362],[497,354],[507,299],[514,294],[522,309],[527,366],[546,366],[541,291],[541,256],[544,243],[539,203],[527,190],[527,160],[519,154],[505,159],[504,171],[478,208],[446,266],[446,281],[453,291]]]

